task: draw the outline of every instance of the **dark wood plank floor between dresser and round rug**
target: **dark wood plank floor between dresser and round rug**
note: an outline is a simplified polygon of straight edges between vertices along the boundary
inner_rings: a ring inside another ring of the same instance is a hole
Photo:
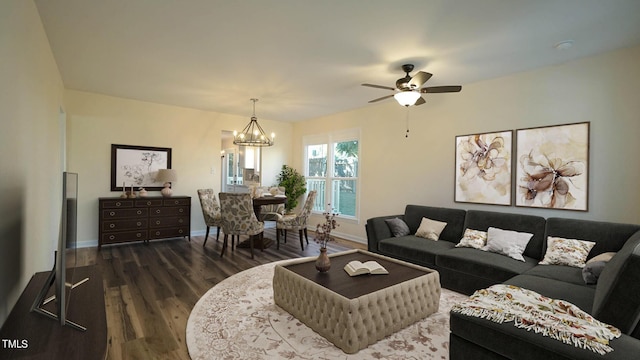
[[[215,229],[213,229],[215,231]],[[104,279],[108,325],[107,359],[189,359],[185,329],[198,299],[223,279],[256,265],[304,256],[317,256],[318,245],[309,234],[300,249],[297,233],[287,243],[275,244],[252,260],[248,249],[227,249],[220,258],[222,239],[203,236],[78,250],[79,265],[96,264]],[[275,239],[275,230],[265,237]],[[282,239],[281,239],[282,240]],[[338,240],[328,253],[362,244]]]

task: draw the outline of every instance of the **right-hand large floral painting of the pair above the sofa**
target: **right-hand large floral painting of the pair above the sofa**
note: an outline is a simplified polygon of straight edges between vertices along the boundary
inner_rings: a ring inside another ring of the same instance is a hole
[[[516,130],[516,206],[587,211],[589,122]]]

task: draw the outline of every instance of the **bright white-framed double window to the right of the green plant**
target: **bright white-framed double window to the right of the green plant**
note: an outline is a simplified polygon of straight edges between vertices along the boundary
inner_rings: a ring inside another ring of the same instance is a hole
[[[345,218],[358,218],[358,131],[305,137],[307,189],[316,190],[315,212],[327,204]]]

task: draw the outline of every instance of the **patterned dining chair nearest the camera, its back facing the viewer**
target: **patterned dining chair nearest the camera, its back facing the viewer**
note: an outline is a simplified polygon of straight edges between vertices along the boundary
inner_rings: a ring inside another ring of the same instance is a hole
[[[222,212],[222,232],[224,232],[224,242],[220,256],[224,255],[229,235],[232,236],[231,250],[233,250],[233,236],[237,236],[239,241],[240,235],[248,235],[251,258],[253,259],[253,240],[256,236],[262,237],[264,223],[259,222],[256,218],[251,194],[220,193],[218,196]]]

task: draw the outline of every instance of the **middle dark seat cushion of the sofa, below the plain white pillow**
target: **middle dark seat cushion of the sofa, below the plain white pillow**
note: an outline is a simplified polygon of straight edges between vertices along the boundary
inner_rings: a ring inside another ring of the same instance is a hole
[[[453,248],[439,254],[436,265],[463,274],[473,274],[477,277],[494,280],[498,283],[522,274],[538,263],[537,260],[529,257],[524,259],[525,261],[522,262],[508,256],[477,249]]]

